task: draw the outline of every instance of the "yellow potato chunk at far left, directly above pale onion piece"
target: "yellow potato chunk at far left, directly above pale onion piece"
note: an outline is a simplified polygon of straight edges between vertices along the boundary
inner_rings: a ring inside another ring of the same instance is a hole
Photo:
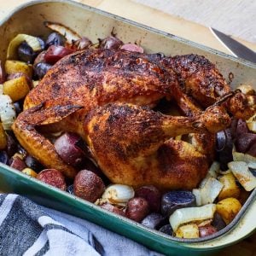
[[[10,96],[13,102],[23,99],[29,92],[26,77],[12,79],[3,84],[3,94]]]

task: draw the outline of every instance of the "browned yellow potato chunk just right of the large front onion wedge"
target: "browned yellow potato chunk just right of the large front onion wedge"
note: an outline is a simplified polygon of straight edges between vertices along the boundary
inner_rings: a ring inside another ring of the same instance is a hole
[[[216,205],[216,212],[224,219],[225,224],[230,224],[240,209],[240,201],[233,197],[219,201]]]

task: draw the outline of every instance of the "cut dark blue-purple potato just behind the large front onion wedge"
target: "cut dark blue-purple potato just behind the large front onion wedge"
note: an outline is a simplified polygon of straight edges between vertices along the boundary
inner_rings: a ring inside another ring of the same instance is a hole
[[[161,212],[164,216],[169,217],[179,208],[194,207],[195,205],[195,195],[190,191],[169,191],[162,196]]]

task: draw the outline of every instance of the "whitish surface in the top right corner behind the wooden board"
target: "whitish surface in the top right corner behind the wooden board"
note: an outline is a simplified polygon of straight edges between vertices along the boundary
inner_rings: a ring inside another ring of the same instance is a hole
[[[256,43],[256,0],[132,0]]]

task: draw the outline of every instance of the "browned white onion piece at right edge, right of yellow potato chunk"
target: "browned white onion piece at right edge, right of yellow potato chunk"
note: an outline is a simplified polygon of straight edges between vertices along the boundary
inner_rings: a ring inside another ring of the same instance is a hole
[[[229,168],[244,189],[251,191],[256,188],[256,177],[254,177],[253,173],[249,171],[249,167],[246,162],[230,162]]]

